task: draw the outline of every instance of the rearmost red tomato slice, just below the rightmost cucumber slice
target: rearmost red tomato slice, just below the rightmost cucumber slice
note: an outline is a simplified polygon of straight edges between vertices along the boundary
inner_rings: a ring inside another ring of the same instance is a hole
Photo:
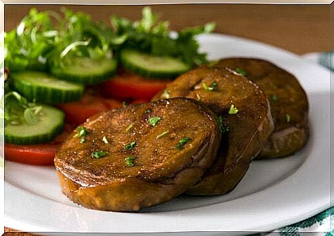
[[[123,72],[110,81],[101,84],[103,96],[121,100],[151,100],[156,93],[164,89],[171,81],[147,79],[136,74]]]

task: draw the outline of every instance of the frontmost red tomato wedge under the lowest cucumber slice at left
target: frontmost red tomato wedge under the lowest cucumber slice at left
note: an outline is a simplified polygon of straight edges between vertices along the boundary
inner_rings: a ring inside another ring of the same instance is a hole
[[[63,133],[50,143],[33,145],[6,143],[5,159],[24,164],[52,165],[56,151],[73,129],[72,125],[65,125]]]

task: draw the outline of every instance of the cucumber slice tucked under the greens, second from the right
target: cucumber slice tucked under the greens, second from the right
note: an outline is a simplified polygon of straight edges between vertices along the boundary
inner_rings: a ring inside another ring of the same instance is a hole
[[[114,58],[94,60],[87,57],[72,57],[67,59],[68,65],[51,67],[51,73],[66,81],[74,81],[86,85],[96,85],[109,80],[116,74],[117,61]]]

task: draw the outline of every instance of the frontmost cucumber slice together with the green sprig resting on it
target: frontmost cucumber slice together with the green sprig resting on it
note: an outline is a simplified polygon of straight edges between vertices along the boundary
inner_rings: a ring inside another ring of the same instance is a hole
[[[28,103],[17,92],[5,97],[5,141],[12,144],[50,142],[63,131],[65,114],[48,105]]]

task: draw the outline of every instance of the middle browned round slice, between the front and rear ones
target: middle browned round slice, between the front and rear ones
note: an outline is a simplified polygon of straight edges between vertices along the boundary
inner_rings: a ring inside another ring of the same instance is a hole
[[[154,99],[176,97],[200,101],[221,116],[223,122],[218,158],[187,193],[228,193],[240,182],[251,160],[273,131],[266,96],[257,85],[236,72],[205,65],[179,76]]]

